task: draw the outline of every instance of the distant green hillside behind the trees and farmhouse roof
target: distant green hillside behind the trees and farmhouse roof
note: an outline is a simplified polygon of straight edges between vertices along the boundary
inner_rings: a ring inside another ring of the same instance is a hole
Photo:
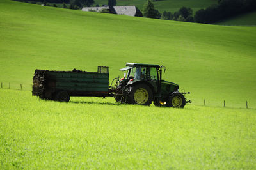
[[[136,5],[141,11],[143,10],[143,5],[146,3],[146,0],[139,1],[139,0],[117,0],[117,6],[124,6],[124,5]],[[217,4],[218,1],[216,0],[163,0],[163,1],[156,1],[154,2],[155,8],[159,10],[159,12],[177,12],[182,6],[190,7],[193,9],[195,13],[197,10],[201,8],[207,8],[212,4]],[[95,4],[108,4],[108,0],[95,0]]]

